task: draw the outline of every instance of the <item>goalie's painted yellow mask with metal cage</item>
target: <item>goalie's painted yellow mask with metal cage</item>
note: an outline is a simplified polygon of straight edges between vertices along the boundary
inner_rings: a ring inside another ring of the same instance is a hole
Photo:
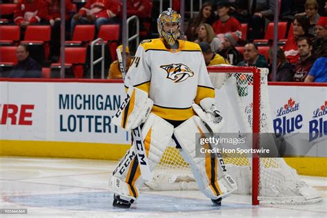
[[[181,15],[168,8],[159,15],[157,26],[160,37],[172,46],[181,35]]]

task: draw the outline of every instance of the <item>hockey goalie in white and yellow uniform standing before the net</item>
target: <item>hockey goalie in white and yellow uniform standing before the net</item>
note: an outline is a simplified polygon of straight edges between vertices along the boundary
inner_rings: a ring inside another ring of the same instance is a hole
[[[201,48],[179,39],[180,24],[177,12],[162,12],[157,20],[160,38],[141,42],[126,75],[127,97],[113,123],[132,130],[132,146],[110,177],[113,206],[130,208],[171,143],[213,204],[220,206],[237,188],[219,155],[196,156],[195,135],[219,132],[224,119],[215,107]]]

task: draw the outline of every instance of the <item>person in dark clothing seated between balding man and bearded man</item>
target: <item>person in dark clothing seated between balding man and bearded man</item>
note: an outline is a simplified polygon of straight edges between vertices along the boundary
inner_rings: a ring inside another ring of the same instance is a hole
[[[270,48],[268,51],[268,56],[270,60],[273,60],[273,48]],[[270,68],[271,69],[271,68]],[[271,70],[270,70],[271,72]],[[268,79],[270,81],[273,80],[271,78],[273,75],[269,75]],[[277,47],[277,73],[275,81],[293,81],[294,77],[294,66],[290,62],[288,62],[284,50]]]

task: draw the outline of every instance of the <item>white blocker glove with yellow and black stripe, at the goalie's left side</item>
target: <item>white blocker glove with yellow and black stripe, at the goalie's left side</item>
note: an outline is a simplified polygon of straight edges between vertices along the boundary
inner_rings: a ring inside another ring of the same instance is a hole
[[[146,121],[152,106],[153,101],[148,98],[148,93],[130,87],[126,98],[121,103],[115,117],[113,117],[112,123],[126,130],[137,128]]]

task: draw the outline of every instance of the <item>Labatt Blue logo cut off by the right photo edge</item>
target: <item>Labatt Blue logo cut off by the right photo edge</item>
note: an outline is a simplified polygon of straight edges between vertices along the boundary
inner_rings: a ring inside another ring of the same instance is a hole
[[[327,135],[327,121],[324,120],[325,115],[327,115],[327,101],[317,108],[317,110],[313,111],[313,119],[309,121],[309,141]]]

